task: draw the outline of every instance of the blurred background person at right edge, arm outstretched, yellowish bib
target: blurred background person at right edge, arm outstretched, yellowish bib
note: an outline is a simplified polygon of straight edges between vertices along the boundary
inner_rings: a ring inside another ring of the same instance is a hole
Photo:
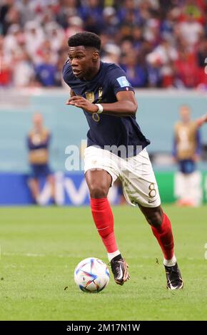
[[[191,120],[191,109],[188,105],[180,108],[181,120],[174,128],[173,158],[178,163],[176,174],[176,195],[178,205],[200,205],[201,175],[196,171],[196,162],[201,155],[201,139],[199,127],[207,122],[207,114]]]

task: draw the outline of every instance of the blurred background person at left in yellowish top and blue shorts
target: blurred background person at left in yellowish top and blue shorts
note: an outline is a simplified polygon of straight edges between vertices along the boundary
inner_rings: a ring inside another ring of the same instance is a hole
[[[51,134],[44,128],[44,120],[41,114],[33,116],[33,128],[27,135],[27,146],[29,149],[29,163],[31,166],[31,177],[29,187],[34,201],[41,205],[39,178],[46,177],[51,186],[51,197],[55,200],[54,176],[49,168],[49,142]]]

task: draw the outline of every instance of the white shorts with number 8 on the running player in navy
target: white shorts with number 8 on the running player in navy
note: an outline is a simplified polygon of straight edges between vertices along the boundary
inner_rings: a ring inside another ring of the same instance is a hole
[[[88,147],[84,152],[84,172],[105,170],[112,182],[119,179],[123,186],[123,195],[130,205],[157,207],[161,205],[156,177],[146,149],[130,158],[120,158],[108,150]]]

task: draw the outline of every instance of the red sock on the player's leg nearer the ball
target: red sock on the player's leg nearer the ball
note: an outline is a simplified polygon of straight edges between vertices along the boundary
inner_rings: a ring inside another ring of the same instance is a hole
[[[116,252],[118,248],[113,231],[113,213],[107,197],[91,199],[91,212],[107,252]]]

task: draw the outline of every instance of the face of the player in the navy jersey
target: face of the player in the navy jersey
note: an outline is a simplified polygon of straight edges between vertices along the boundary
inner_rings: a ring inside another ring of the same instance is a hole
[[[69,47],[69,61],[76,78],[90,77],[91,71],[94,70],[96,58],[97,51],[94,52],[93,48],[85,48],[84,46]]]

